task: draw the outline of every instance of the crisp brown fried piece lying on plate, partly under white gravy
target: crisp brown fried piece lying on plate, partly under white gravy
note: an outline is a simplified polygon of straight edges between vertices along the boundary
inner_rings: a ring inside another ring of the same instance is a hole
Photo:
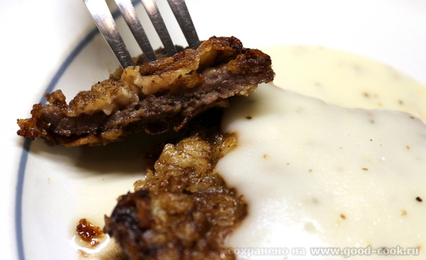
[[[247,205],[213,168],[236,145],[235,134],[166,144],[136,192],[120,197],[105,217],[104,232],[132,260],[235,259],[223,242]]]

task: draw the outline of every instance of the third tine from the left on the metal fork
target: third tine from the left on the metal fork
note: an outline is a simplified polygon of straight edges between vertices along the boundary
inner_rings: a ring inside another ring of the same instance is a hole
[[[171,40],[169,31],[167,31],[166,24],[161,17],[160,11],[156,6],[155,0],[142,0],[145,10],[147,10],[148,16],[151,19],[152,24],[159,35],[161,42],[166,49],[167,55],[173,56],[177,53],[176,47]]]

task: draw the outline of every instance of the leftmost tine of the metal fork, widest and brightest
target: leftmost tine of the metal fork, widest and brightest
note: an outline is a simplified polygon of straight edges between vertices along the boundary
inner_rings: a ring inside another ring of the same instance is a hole
[[[115,24],[114,18],[108,9],[107,3],[105,1],[97,0],[83,0],[89,9],[90,14],[92,15],[93,20],[96,23],[97,28],[104,36],[112,52],[119,60],[120,65],[124,67],[133,66],[132,56],[127,50],[126,45],[122,36],[120,36],[117,25]]]

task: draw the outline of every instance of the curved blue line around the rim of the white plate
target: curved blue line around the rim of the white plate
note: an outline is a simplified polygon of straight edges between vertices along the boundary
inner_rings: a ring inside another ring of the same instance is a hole
[[[137,4],[140,4],[141,1],[132,1],[134,6]],[[118,10],[112,11],[112,17],[114,19],[121,16],[121,13],[119,13]],[[82,38],[80,43],[71,51],[70,55],[65,58],[63,63],[59,66],[58,70],[53,75],[52,79],[50,80],[48,87],[46,87],[45,93],[52,92],[56,85],[58,84],[58,81],[60,80],[60,77],[62,77],[65,73],[65,71],[68,69],[71,63],[73,63],[73,60],[80,54],[80,52],[92,41],[95,36],[99,34],[99,31],[97,28],[94,28],[92,31],[87,33],[87,36]],[[40,102],[45,104],[46,100],[44,97],[41,97]],[[18,165],[18,178],[16,181],[16,195],[15,195],[15,211],[14,211],[14,219],[15,219],[15,236],[16,236],[16,250],[18,253],[18,260],[25,260],[25,251],[23,249],[23,229],[22,229],[22,197],[23,197],[23,181],[25,179],[25,172],[26,172],[26,164],[28,162],[28,153],[31,148],[31,141],[29,139],[26,139],[23,142],[22,147],[22,153],[21,158],[19,158],[19,165]]]

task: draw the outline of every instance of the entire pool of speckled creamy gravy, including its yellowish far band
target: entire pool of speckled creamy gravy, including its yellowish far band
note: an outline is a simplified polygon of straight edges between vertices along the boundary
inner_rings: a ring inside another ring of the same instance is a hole
[[[307,259],[317,247],[425,257],[426,88],[337,50],[264,51],[284,90],[260,85],[223,119],[238,147],[216,170],[249,206],[226,246],[243,259]]]

